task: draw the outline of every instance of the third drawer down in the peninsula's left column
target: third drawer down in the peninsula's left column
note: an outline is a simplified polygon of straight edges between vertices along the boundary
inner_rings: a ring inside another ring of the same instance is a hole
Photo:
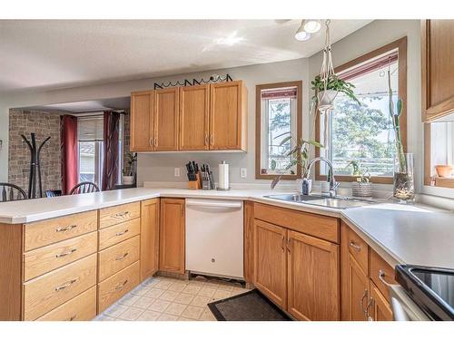
[[[35,320],[96,285],[96,255],[24,284],[24,319]]]

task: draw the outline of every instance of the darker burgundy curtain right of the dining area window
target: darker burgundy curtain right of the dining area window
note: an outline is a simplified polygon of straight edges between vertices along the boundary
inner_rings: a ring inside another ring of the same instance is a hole
[[[118,129],[120,113],[104,112],[104,167],[102,190],[114,189],[118,176]]]

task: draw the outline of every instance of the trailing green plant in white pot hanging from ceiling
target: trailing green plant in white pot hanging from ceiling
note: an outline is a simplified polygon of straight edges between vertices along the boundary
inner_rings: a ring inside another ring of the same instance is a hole
[[[311,89],[315,91],[311,99],[311,112],[315,107],[318,107],[321,112],[332,109],[332,102],[339,92],[346,94],[360,105],[360,101],[353,92],[355,85],[341,80],[336,74],[330,74],[326,80],[322,79],[319,74],[311,82],[311,85]]]

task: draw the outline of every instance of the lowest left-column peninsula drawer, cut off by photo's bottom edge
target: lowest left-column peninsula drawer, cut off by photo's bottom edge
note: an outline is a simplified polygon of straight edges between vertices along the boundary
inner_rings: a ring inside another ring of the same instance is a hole
[[[38,321],[90,321],[96,316],[96,287],[56,307]]]

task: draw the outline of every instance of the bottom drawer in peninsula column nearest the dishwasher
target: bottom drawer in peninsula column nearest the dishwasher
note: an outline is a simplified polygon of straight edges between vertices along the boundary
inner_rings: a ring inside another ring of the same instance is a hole
[[[98,284],[98,313],[138,286],[139,275],[140,261],[137,261]]]

